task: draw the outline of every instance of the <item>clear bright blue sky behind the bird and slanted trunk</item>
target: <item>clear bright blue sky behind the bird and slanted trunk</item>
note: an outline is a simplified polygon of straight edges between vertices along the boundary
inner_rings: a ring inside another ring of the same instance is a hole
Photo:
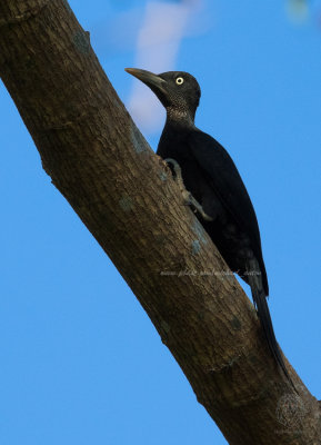
[[[146,1],[106,3],[70,4],[128,102],[136,80],[123,68],[137,60]],[[224,145],[247,184],[277,337],[320,398],[321,6],[311,4],[305,21],[295,21],[282,1],[208,1],[174,69],[198,78],[197,125]],[[129,43],[107,44],[104,23],[130,8]],[[147,132],[154,149],[160,131]],[[227,444],[127,284],[41,169],[2,83],[0,134],[0,442]]]

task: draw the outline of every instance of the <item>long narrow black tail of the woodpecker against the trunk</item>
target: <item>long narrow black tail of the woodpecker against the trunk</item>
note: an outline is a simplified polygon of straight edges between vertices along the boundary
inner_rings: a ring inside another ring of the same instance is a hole
[[[259,315],[269,348],[270,348],[277,364],[281,367],[287,379],[290,382],[290,384],[297,392],[297,388],[287,370],[283,357],[281,355],[280,347],[279,347],[277,338],[275,338],[272,319],[271,319],[271,315],[270,315],[270,310],[269,310],[269,306],[268,306],[268,301],[267,301],[267,296],[265,296],[265,293],[263,289],[260,266],[255,258],[250,259],[248,261],[248,279],[249,279],[249,285],[250,285],[251,291],[252,291],[253,303],[258,310],[258,315]]]

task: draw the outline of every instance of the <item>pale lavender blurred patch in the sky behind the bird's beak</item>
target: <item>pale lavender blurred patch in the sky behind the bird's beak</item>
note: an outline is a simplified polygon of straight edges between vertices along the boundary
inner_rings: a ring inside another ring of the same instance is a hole
[[[148,2],[138,34],[134,68],[157,73],[172,70],[181,40],[189,33],[189,23],[195,19],[201,4],[202,0]],[[163,117],[162,109],[156,96],[138,80],[133,81],[128,108],[144,132],[153,132],[159,128]]]

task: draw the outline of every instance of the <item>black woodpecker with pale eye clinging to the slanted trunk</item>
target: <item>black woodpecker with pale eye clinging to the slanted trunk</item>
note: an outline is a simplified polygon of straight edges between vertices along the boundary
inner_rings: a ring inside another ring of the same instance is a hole
[[[190,204],[199,210],[197,216],[204,229],[230,269],[250,285],[269,348],[294,387],[267,303],[268,277],[251,199],[227,150],[194,125],[201,97],[198,81],[182,71],[161,75],[134,68],[126,71],[146,83],[164,106],[167,121],[157,154],[181,175],[185,189],[192,195]]]

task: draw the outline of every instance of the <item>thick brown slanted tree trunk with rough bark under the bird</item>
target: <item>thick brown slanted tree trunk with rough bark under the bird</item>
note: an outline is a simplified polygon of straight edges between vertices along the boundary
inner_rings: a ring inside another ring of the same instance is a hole
[[[0,76],[52,182],[229,444],[320,444],[318,402],[290,370],[300,396],[293,394],[234,277],[212,274],[227,270],[224,261],[181,205],[67,1],[1,0]]]

